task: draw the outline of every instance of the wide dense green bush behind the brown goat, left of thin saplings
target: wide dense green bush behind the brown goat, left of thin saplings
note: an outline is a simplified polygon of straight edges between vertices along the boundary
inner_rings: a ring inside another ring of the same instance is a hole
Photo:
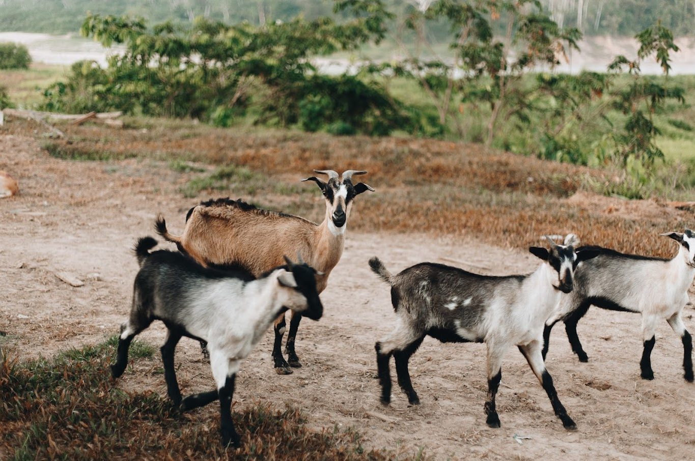
[[[231,126],[254,105],[253,113],[260,112],[256,123],[318,131],[344,121],[355,132],[389,134],[408,124],[402,104],[382,85],[317,75],[309,61],[383,37],[389,15],[380,1],[352,3],[339,1],[338,8],[361,17],[341,24],[321,17],[227,26],[198,18],[189,28],[164,23],[149,29],[144,19],[88,15],[83,35],[106,47],[122,43],[126,51],[112,56],[106,69],[90,62],[74,65],[66,82],[46,91],[44,108],[123,110]],[[368,17],[364,5],[370,5]]]

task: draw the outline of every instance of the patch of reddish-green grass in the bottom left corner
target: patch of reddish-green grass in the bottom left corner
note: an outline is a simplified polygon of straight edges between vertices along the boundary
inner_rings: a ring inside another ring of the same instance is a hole
[[[222,449],[216,414],[184,417],[156,392],[122,392],[108,368],[114,344],[111,337],[26,362],[0,351],[0,452],[15,460],[391,459],[388,451],[366,451],[352,428],[312,430],[300,410],[261,402],[234,412],[242,449]]]

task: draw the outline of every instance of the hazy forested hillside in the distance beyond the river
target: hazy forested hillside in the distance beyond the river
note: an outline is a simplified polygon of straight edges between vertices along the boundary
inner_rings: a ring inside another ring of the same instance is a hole
[[[436,0],[434,0],[436,1]],[[384,0],[399,14],[430,0]],[[561,26],[586,35],[635,35],[660,19],[676,36],[694,35],[693,0],[541,0]],[[190,22],[196,16],[236,24],[332,15],[332,0],[0,0],[0,31],[76,33],[89,10],[101,15],[139,15],[149,24]]]

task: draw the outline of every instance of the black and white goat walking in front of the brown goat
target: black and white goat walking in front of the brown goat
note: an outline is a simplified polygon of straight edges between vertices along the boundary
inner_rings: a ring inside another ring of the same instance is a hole
[[[167,338],[161,353],[167,394],[181,411],[220,399],[222,444],[239,446],[231,421],[231,398],[241,360],[281,312],[291,309],[313,320],[321,318],[318,274],[308,265],[286,258],[286,266],[256,279],[240,268],[222,271],[202,267],[174,251],[149,253],[156,244],[154,238],[143,237],[134,249],[140,271],[135,278],[130,317],[121,326],[117,359],[111,365],[113,377],[118,378],[126,369],[133,337],[152,321],[163,321]],[[183,336],[207,342],[216,390],[181,399],[174,349]]]

